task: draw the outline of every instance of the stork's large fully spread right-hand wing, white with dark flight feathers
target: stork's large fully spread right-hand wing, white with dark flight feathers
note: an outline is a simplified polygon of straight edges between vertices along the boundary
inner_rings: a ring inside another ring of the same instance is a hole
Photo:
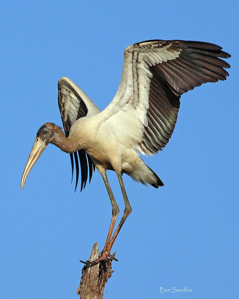
[[[152,40],[129,46],[117,94],[100,113],[102,126],[143,154],[166,146],[174,131],[180,97],[206,82],[226,80],[221,47],[183,40]]]

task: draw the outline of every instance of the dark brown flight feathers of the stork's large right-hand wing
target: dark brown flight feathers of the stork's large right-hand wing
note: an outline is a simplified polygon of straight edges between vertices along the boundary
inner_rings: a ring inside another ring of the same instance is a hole
[[[148,41],[149,45],[150,42],[157,41]],[[230,68],[219,58],[230,55],[217,45],[182,40],[160,41],[159,44],[161,47],[171,44],[168,51],[176,50],[180,54],[174,60],[149,65],[152,78],[143,145],[153,154],[162,150],[171,138],[181,95],[203,83],[226,80],[229,74],[224,68]]]

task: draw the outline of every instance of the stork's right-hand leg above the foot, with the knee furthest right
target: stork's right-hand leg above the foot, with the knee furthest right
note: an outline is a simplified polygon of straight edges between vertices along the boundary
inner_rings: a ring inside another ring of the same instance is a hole
[[[126,191],[125,191],[125,185],[124,185],[124,182],[123,182],[123,179],[122,179],[122,174],[120,172],[117,172],[117,176],[118,176],[118,179],[119,179],[119,185],[120,185],[122,195],[123,195],[123,198],[124,198],[124,202],[125,202],[125,210],[124,210],[124,214],[123,214],[123,216],[122,216],[122,218],[119,222],[119,225],[117,226],[117,228],[114,232],[114,235],[110,240],[109,247],[107,248],[107,250],[109,252],[111,251],[111,248],[114,244],[114,241],[115,241],[117,235],[119,234],[119,231],[122,228],[126,218],[129,216],[129,214],[132,211],[131,205],[130,205],[129,200],[128,200],[128,196],[127,196]]]

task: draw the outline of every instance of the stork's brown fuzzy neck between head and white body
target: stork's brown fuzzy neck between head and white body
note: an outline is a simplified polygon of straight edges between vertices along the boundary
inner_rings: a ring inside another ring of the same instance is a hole
[[[53,138],[50,141],[51,144],[67,153],[73,153],[81,149],[78,142],[76,142],[76,138],[66,137],[61,127],[56,126],[54,131]]]

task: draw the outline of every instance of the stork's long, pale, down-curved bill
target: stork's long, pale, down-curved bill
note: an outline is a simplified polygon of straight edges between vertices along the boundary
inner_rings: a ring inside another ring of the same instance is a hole
[[[21,188],[23,190],[25,181],[27,179],[28,173],[32,169],[33,165],[36,163],[37,159],[40,157],[44,149],[47,147],[48,143],[46,140],[42,140],[41,138],[37,137],[34,141],[32,150],[30,152],[29,158],[27,160],[27,164],[24,168],[21,180]]]

